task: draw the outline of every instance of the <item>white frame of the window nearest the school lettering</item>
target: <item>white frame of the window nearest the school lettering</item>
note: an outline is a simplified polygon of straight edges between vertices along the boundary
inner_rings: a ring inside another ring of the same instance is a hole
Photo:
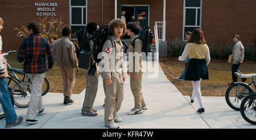
[[[72,0],[69,0],[69,28],[71,28],[72,26],[86,26],[88,20],[87,20],[87,17],[88,17],[88,3],[87,1],[88,0],[83,0],[83,1],[86,1],[86,6],[71,6],[71,1]],[[81,8],[81,22],[82,24],[72,24],[72,8]],[[84,23],[84,8],[85,8],[85,23]],[[71,37],[71,40],[76,40],[76,39],[72,39]]]

